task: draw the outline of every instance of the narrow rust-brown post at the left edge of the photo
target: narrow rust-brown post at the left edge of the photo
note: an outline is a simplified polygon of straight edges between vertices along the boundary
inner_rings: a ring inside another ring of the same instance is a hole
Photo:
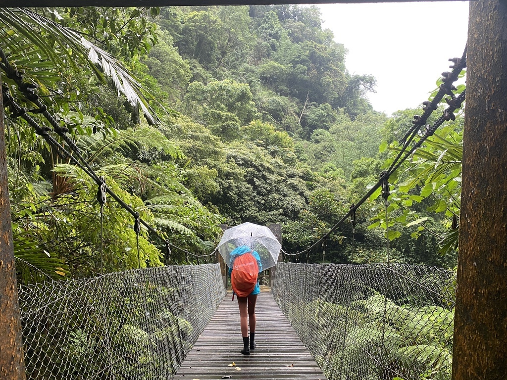
[[[5,380],[25,379],[17,289],[7,183],[4,104],[0,91],[0,378]]]

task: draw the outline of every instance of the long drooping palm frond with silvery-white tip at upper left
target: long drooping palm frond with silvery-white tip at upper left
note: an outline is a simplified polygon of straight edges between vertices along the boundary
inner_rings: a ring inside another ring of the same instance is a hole
[[[23,59],[20,63],[25,65],[25,79],[31,80],[32,83],[42,84],[40,80],[36,80],[41,72],[44,72],[40,70],[40,63],[37,62],[45,62],[45,70],[50,67],[46,64],[48,61],[56,68],[71,66],[77,72],[81,71],[80,65],[84,65],[104,84],[104,74],[110,77],[118,94],[125,95],[135,109],[142,109],[150,124],[160,121],[148,103],[149,92],[144,90],[139,80],[117,59],[74,30],[28,9],[0,8],[0,35],[3,37],[2,48],[7,49],[8,53],[19,51],[20,46],[27,48],[22,53]],[[48,39],[47,36],[51,38]],[[49,41],[54,44],[50,45]],[[35,59],[36,55],[38,59]],[[13,63],[17,65],[16,61]]]

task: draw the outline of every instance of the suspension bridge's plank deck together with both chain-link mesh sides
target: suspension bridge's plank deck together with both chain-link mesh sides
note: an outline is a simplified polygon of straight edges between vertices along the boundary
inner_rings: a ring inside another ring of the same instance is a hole
[[[418,265],[277,264],[242,348],[219,264],[19,292],[29,379],[450,378],[455,273]],[[229,376],[229,377],[228,377]]]

